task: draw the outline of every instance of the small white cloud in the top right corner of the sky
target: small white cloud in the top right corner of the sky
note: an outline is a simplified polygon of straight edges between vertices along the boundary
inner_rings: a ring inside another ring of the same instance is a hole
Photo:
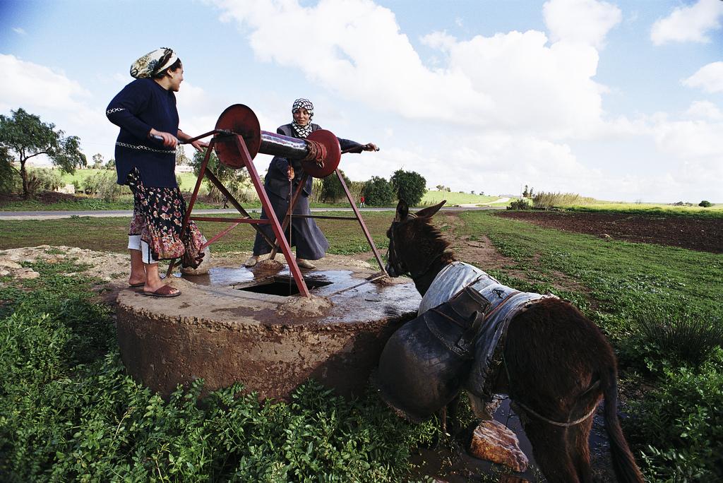
[[[710,30],[719,30],[723,17],[723,1],[698,0],[690,7],[677,7],[667,17],[656,20],[650,38],[656,46],[667,42],[711,41]]]

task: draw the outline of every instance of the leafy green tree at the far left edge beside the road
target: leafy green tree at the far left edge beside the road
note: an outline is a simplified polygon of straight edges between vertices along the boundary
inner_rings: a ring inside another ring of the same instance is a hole
[[[27,170],[30,158],[46,155],[61,171],[74,173],[75,168],[87,166],[85,155],[80,152],[80,138],[64,137],[55,124],[40,121],[39,116],[28,114],[23,108],[10,111],[12,116],[0,115],[0,146],[13,153],[20,163],[22,195],[27,198]]]

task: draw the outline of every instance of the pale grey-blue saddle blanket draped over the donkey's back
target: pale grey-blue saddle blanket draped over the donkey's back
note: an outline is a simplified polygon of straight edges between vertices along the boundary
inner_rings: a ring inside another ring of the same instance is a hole
[[[474,364],[465,388],[484,401],[489,401],[492,398],[491,386],[494,382],[494,377],[490,375],[496,374],[500,366],[503,341],[510,320],[546,295],[516,291],[473,265],[452,262],[432,281],[422,303],[419,304],[418,313],[422,315],[470,289],[484,299],[476,308],[481,312],[479,315],[483,320],[474,341]],[[459,315],[469,320],[471,314]]]

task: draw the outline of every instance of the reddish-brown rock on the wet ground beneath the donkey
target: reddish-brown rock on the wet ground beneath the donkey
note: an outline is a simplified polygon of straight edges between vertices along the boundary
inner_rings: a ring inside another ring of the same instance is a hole
[[[469,453],[475,458],[500,463],[518,472],[525,471],[529,463],[515,433],[494,419],[483,421],[474,429]]]

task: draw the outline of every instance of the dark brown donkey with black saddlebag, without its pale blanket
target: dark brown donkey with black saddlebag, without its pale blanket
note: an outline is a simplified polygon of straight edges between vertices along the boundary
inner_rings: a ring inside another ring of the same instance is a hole
[[[422,296],[437,274],[456,262],[448,249],[449,243],[430,223],[432,215],[444,203],[411,214],[406,204],[400,202],[387,233],[390,239],[388,273],[391,276],[410,274]],[[469,382],[469,374],[480,363],[479,356],[469,356],[469,351],[460,348],[464,349],[463,342],[470,346],[470,330],[480,337],[478,331],[484,327],[484,321],[482,325],[477,321],[486,320],[487,312],[484,307],[465,312],[474,294],[467,296],[468,302],[459,302],[463,298],[459,296],[461,293],[451,302],[425,312],[442,314],[432,314],[437,319],[424,319],[422,314],[408,322],[390,338],[382,352],[379,369],[382,398],[413,420],[442,409],[462,389],[470,394],[478,416],[486,416],[480,409],[488,401],[482,400],[481,392],[471,388]],[[461,313],[464,317],[457,317]],[[588,438],[592,416],[604,398],[605,429],[615,475],[621,482],[642,482],[641,471],[617,418],[615,355],[599,328],[578,309],[556,297],[532,300],[524,310],[514,314],[506,326],[506,338],[501,341],[498,370],[489,374],[489,389],[510,396],[547,480],[591,481]],[[455,317],[461,328],[452,327]],[[465,325],[468,319],[469,325]],[[454,330],[460,331],[459,342],[456,337],[449,337]],[[437,349],[429,347],[445,349],[432,354]]]

